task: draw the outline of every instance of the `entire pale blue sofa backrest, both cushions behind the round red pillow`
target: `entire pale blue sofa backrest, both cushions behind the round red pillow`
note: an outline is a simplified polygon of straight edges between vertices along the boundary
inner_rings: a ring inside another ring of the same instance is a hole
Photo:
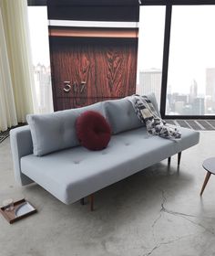
[[[154,94],[148,95],[148,99],[152,101],[158,111]],[[144,125],[138,120],[133,106],[127,98],[97,102],[83,108],[48,114],[29,114],[26,120],[30,126],[34,155],[46,155],[79,145],[75,124],[77,117],[86,111],[100,112],[105,116],[113,134]]]

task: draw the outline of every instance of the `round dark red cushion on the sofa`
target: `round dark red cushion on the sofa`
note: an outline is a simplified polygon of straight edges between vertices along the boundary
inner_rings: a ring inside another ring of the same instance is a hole
[[[76,122],[77,138],[90,150],[101,150],[107,147],[110,140],[110,126],[99,112],[83,112]]]

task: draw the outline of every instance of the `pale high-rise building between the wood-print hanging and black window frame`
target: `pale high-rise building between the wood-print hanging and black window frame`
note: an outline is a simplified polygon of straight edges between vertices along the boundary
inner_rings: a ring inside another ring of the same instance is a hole
[[[146,95],[154,92],[158,104],[160,105],[161,79],[161,69],[147,69],[140,71],[137,93],[140,95]]]

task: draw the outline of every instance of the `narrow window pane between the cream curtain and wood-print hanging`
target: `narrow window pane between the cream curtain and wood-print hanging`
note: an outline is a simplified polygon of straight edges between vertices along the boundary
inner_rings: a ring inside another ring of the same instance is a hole
[[[53,112],[46,6],[28,6],[38,112]]]

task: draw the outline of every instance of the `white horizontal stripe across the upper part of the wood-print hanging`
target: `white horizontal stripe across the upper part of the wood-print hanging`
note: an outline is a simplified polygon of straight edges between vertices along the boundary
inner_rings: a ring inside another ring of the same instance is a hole
[[[59,20],[49,19],[49,26],[56,27],[124,27],[138,28],[138,22],[118,21],[83,21],[83,20]]]

